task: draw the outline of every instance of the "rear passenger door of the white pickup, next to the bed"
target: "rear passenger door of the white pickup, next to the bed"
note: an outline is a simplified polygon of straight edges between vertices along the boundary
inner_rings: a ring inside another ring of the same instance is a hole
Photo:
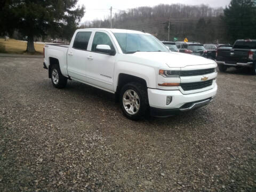
[[[69,47],[67,53],[68,75],[79,81],[86,82],[87,71],[86,64],[89,62],[88,44],[92,31],[78,31],[72,47]]]

